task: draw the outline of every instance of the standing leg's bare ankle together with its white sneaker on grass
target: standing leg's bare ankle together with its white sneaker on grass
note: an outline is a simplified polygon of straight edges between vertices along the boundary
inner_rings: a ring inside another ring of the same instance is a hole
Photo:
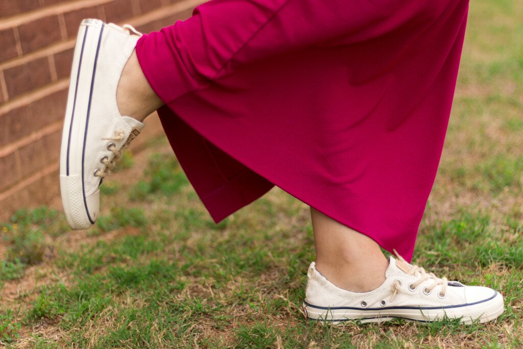
[[[463,323],[496,319],[503,296],[481,286],[448,282],[404,258],[386,260],[378,244],[311,206],[316,261],[305,289],[303,312],[328,322],[423,322],[459,318]],[[395,252],[395,251],[394,251]]]

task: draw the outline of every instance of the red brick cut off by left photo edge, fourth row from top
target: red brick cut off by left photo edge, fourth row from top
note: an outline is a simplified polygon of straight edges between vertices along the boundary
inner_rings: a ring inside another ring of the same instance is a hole
[[[30,106],[22,106],[0,116],[0,123],[3,125],[0,147],[29,136],[33,131]]]

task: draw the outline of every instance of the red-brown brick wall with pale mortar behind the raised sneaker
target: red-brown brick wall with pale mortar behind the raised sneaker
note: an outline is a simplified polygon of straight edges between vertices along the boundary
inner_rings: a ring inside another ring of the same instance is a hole
[[[59,195],[62,122],[81,20],[129,23],[150,32],[189,17],[201,2],[0,1],[0,219]],[[145,131],[160,132],[157,120],[147,119]]]

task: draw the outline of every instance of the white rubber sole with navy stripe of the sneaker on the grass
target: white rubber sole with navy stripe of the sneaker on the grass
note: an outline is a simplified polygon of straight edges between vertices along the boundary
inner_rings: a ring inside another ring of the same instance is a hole
[[[415,307],[384,307],[384,308],[325,308],[303,303],[302,310],[310,320],[318,320],[329,324],[338,324],[349,320],[359,320],[361,323],[385,322],[401,318],[418,322],[433,322],[461,318],[461,323],[483,323],[495,320],[504,311],[503,296],[496,292],[492,297],[480,302],[446,308],[415,308]]]

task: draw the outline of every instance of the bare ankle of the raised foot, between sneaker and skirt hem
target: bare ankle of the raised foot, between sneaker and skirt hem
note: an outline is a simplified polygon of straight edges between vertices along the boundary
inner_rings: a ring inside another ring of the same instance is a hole
[[[116,93],[118,110],[123,116],[143,121],[148,115],[163,105],[154,93],[142,72],[136,52],[123,67]]]

